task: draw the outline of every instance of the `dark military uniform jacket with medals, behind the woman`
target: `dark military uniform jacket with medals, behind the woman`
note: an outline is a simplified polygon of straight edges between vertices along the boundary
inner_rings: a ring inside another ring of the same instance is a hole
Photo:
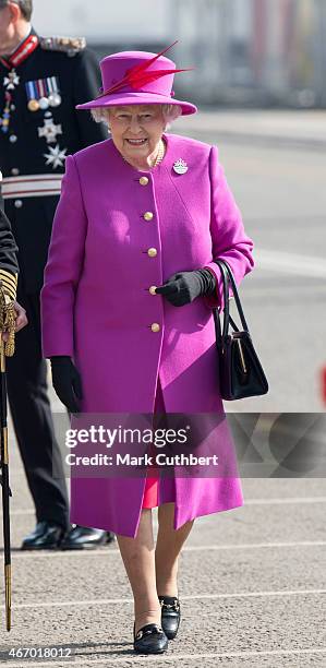
[[[39,38],[32,31],[0,59],[0,169],[19,247],[20,281],[40,289],[67,155],[107,136],[75,105],[98,94],[99,70],[82,39]]]

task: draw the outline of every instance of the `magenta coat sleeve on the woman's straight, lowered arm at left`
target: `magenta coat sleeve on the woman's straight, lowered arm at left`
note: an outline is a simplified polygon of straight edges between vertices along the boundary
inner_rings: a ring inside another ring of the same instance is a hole
[[[41,290],[43,355],[74,354],[74,302],[84,261],[87,216],[77,167],[65,160]]]

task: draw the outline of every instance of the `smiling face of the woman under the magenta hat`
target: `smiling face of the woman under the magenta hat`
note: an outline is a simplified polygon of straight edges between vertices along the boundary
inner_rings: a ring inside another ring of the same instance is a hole
[[[161,105],[129,105],[109,110],[109,126],[118,151],[126,159],[155,153],[165,130]]]

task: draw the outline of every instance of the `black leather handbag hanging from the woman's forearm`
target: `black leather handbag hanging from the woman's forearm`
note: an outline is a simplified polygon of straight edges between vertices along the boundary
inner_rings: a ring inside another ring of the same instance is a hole
[[[220,394],[224,399],[234,401],[258,396],[268,392],[268,382],[255,351],[242,310],[234,276],[225,260],[214,260],[219,266],[224,283],[224,323],[214,309],[216,346],[218,350]],[[230,315],[230,285],[243,330],[240,331]],[[230,324],[232,332],[229,332]]]

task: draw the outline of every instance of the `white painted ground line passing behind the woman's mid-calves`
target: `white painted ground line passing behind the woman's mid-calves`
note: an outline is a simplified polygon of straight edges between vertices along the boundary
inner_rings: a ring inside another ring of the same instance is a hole
[[[200,552],[200,551],[224,551],[224,550],[259,550],[263,548],[291,548],[291,547],[326,547],[326,540],[297,540],[289,542],[238,542],[238,544],[226,544],[226,545],[189,545],[183,548],[183,552]],[[107,557],[108,554],[120,554],[119,549],[114,548],[95,548],[92,550],[22,550],[20,552],[12,552],[13,560],[23,557],[23,558],[53,558],[58,559],[62,557],[89,557],[89,556],[101,556]]]

